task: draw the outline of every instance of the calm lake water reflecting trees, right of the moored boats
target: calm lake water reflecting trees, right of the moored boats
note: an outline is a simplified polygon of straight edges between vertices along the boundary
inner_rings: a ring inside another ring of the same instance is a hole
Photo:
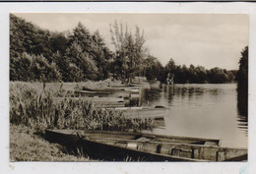
[[[222,146],[247,147],[247,117],[242,115],[235,84],[174,85],[143,89],[143,106],[165,106],[161,135],[221,139]]]

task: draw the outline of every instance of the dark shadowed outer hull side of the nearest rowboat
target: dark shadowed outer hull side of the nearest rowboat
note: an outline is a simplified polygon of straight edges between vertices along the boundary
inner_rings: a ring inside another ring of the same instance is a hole
[[[77,134],[68,135],[50,130],[46,130],[46,139],[51,143],[65,145],[67,150],[71,153],[76,154],[79,149],[80,153],[83,151],[84,154],[100,160],[196,161],[189,158],[171,157],[152,152],[140,151],[138,149],[129,149],[116,145],[97,143],[96,141],[87,140],[87,138],[79,138]]]

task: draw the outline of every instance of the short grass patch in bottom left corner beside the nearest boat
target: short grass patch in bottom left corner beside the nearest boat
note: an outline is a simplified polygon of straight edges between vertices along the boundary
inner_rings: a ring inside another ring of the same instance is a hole
[[[11,161],[92,161],[83,155],[68,154],[57,144],[50,144],[38,130],[25,126],[10,125],[10,160]]]

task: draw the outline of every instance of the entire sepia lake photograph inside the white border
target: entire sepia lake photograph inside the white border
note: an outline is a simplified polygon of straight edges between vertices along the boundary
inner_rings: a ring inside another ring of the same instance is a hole
[[[9,160],[248,160],[246,14],[10,13]]]

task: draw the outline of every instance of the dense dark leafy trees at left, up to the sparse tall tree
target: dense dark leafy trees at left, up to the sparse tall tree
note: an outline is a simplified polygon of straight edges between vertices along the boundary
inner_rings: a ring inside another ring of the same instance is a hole
[[[103,80],[111,56],[99,32],[81,23],[70,33],[50,32],[10,15],[11,81]]]

